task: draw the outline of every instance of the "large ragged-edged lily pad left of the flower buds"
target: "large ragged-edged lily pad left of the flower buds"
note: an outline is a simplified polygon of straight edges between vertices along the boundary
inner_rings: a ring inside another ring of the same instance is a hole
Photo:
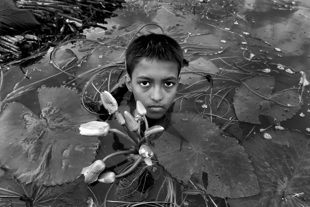
[[[96,116],[82,110],[80,95],[67,88],[42,88],[38,117],[23,104],[10,103],[0,116],[0,157],[21,182],[46,186],[73,181],[91,164],[97,137],[78,127]]]

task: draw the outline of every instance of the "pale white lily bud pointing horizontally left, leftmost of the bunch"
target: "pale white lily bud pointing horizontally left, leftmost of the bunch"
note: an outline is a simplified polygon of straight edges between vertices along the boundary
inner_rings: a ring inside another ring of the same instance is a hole
[[[110,132],[110,125],[102,121],[91,121],[81,124],[79,130],[83,136],[106,136]]]

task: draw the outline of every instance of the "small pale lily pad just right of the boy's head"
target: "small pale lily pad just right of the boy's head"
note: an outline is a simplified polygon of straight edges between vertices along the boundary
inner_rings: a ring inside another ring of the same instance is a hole
[[[199,57],[197,60],[191,61],[188,67],[181,70],[181,82],[184,85],[191,85],[200,80],[206,80],[206,74],[217,74],[219,68],[210,60]]]

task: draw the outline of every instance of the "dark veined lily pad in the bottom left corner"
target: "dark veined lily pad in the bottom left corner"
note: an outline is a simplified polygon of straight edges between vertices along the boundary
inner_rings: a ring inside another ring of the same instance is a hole
[[[86,206],[87,184],[85,182],[70,182],[54,187],[43,185],[25,185],[14,178],[14,172],[5,167],[0,168],[0,186],[7,190],[25,195],[24,198],[1,198],[0,207],[39,207],[39,206]],[[9,194],[0,191],[1,194]],[[26,204],[26,205],[25,205]]]

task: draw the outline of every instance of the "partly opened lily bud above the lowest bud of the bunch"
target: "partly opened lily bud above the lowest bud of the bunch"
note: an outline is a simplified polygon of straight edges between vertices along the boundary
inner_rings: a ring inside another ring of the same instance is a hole
[[[104,168],[104,162],[102,160],[96,160],[90,166],[83,168],[81,174],[84,174],[86,183],[92,183],[98,179],[99,174],[104,170]]]

